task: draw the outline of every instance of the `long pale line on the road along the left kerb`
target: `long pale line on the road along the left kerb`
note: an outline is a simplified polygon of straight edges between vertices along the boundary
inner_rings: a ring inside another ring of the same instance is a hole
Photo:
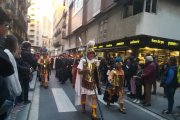
[[[34,91],[33,100],[31,103],[31,110],[28,120],[38,120],[39,119],[39,94],[40,94],[40,82],[36,80],[36,90]]]

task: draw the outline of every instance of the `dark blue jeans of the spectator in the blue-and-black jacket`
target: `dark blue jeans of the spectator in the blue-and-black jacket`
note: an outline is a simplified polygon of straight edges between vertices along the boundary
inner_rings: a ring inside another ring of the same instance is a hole
[[[165,88],[167,91],[167,99],[168,99],[168,111],[172,112],[173,105],[174,105],[174,94],[176,89],[174,88]]]

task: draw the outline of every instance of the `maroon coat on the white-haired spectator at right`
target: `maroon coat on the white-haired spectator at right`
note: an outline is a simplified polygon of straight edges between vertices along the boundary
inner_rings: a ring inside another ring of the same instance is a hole
[[[144,82],[148,84],[153,84],[155,80],[156,74],[156,66],[153,62],[146,64],[146,68],[144,73],[142,74],[142,78],[144,78]]]

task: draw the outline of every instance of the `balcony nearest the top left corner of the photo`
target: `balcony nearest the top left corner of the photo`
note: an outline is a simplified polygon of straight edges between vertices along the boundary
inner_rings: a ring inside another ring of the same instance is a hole
[[[8,13],[15,15],[15,4],[12,0],[6,1],[5,8]]]

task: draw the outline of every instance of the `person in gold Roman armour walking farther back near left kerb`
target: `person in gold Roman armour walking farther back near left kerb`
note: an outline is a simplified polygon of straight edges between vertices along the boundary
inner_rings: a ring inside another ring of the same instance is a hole
[[[47,49],[44,49],[43,58],[40,58],[38,60],[38,64],[41,65],[41,82],[42,85],[47,88],[48,85],[48,74],[49,74],[49,67],[51,65],[50,59],[47,57]]]

